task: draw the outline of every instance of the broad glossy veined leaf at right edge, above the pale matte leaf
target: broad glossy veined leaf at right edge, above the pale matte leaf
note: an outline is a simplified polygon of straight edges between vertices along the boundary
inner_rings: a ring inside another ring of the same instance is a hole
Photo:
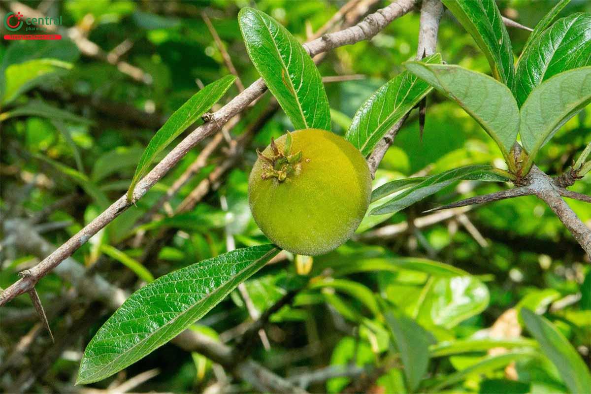
[[[532,41],[517,64],[514,91],[519,106],[548,78],[591,64],[590,30],[591,14],[572,14]]]

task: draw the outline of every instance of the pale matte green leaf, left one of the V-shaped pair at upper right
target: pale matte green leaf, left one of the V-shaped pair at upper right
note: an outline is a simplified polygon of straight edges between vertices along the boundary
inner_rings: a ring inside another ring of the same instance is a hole
[[[499,145],[505,158],[517,139],[519,109],[504,84],[459,66],[404,63],[408,70],[455,100]]]

